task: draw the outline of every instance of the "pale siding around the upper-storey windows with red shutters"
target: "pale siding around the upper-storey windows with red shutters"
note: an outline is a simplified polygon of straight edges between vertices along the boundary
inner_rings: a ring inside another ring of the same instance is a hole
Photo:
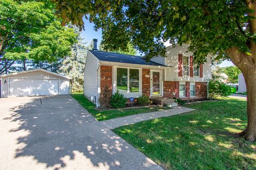
[[[166,63],[167,66],[172,66],[170,69],[166,70],[165,74],[165,80],[166,81],[191,81],[191,82],[206,82],[207,79],[212,78],[212,60],[210,56],[207,56],[207,62],[203,64],[203,78],[199,77],[179,77],[178,76],[178,60],[179,60],[179,54],[182,54],[183,56],[193,56],[193,53],[187,52],[187,47],[189,45],[183,45],[183,46],[176,46],[167,47],[166,50]]]

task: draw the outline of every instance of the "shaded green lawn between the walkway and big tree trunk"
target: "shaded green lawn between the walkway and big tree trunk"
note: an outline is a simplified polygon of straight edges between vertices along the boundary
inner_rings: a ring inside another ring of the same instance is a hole
[[[230,133],[246,127],[246,101],[187,105],[196,111],[122,126],[120,137],[165,169],[256,169],[256,143]]]

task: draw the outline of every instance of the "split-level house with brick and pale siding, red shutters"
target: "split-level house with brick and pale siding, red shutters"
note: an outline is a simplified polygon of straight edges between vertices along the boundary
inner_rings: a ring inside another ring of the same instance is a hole
[[[108,86],[125,97],[207,98],[207,80],[212,78],[211,57],[205,64],[193,64],[188,45],[167,47],[167,57],[153,57],[146,62],[140,56],[102,52],[87,53],[84,69],[84,96],[99,106],[100,91]]]

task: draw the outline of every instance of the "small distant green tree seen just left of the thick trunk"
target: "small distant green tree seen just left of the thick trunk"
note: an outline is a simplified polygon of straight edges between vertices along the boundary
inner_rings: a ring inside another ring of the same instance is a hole
[[[238,83],[238,75],[241,73],[241,70],[239,70],[237,66],[224,67],[222,71],[228,75],[228,82]]]

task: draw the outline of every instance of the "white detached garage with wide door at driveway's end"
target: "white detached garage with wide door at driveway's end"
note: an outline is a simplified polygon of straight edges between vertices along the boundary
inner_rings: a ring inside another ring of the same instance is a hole
[[[44,69],[3,74],[1,97],[67,95],[70,79]]]

